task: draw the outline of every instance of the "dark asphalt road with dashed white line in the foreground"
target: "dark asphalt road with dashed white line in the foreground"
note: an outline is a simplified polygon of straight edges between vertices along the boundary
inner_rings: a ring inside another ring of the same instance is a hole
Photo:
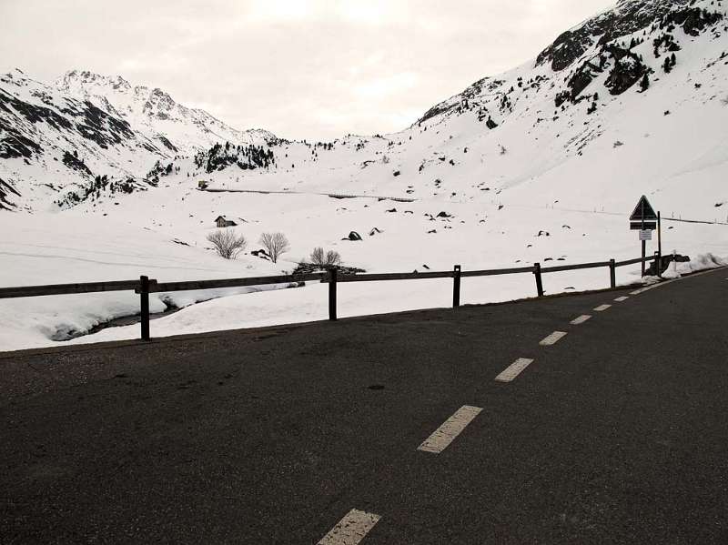
[[[726,277],[7,353],[1,540],[724,543]]]

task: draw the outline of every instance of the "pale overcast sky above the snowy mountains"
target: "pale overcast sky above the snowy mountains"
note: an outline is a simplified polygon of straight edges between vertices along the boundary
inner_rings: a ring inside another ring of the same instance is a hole
[[[0,0],[0,69],[124,76],[231,126],[409,126],[615,0]]]

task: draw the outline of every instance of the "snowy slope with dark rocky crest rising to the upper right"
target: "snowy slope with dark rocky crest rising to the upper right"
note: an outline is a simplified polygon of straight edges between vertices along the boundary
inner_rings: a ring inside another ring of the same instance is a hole
[[[191,173],[225,187],[591,210],[624,210],[640,192],[713,218],[728,200],[727,15],[722,0],[622,0],[399,133],[282,142],[268,169],[228,158]]]

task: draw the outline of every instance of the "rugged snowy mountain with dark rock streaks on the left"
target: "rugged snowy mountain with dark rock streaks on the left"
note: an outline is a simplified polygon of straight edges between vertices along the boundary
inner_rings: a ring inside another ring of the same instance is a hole
[[[157,162],[228,140],[277,138],[239,131],[118,76],[72,71],[47,85],[16,69],[0,75],[0,209],[73,204],[69,195],[86,196],[102,177],[108,192],[145,189]]]

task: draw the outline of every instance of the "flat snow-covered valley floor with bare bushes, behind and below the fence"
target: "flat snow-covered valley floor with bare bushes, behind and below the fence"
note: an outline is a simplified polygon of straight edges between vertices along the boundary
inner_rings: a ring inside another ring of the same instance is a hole
[[[487,198],[481,202],[423,199],[399,203],[311,195],[217,194],[190,186],[183,182],[110,200],[107,211],[84,204],[60,213],[0,215],[0,286],[122,280],[140,275],[159,282],[267,276],[291,272],[318,246],[339,251],[345,265],[368,272],[421,272],[427,267],[450,270],[456,264],[464,270],[534,262],[567,265],[640,254],[637,234],[628,229],[629,210],[623,214],[575,212],[516,203],[499,210],[497,202]],[[437,217],[440,212],[451,217]],[[236,260],[217,257],[206,240],[215,229],[213,220],[218,214],[235,219],[238,227],[230,228],[248,238],[246,254]],[[369,236],[374,227],[381,232]],[[352,230],[363,240],[342,240]],[[281,231],[290,240],[291,250],[275,265],[249,255],[260,247],[258,237],[266,231]],[[648,252],[655,247],[650,243]],[[691,267],[714,267],[722,262],[721,257],[728,257],[728,227],[665,222],[663,251],[672,249],[693,257],[693,263],[681,265],[683,272]],[[639,282],[639,266],[619,268],[617,281]],[[606,268],[544,277],[547,293],[606,288],[608,284]],[[449,279],[344,284],[339,287],[339,316],[448,307],[451,286]],[[169,305],[182,309],[154,320],[152,335],[328,317],[325,285],[276,288],[284,286],[154,294],[152,312],[162,312]],[[462,283],[463,304],[534,294],[531,274],[464,278]],[[99,323],[138,310],[138,296],[132,292],[0,300],[0,349],[137,338],[138,325],[130,325],[69,341],[53,340],[67,333],[83,334]]]

